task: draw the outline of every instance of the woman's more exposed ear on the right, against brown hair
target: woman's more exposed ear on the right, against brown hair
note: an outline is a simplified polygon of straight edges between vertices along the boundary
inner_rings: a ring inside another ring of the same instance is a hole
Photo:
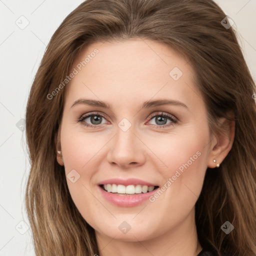
[[[211,141],[211,150],[209,152],[207,165],[209,168],[217,167],[228,152],[230,151],[235,132],[235,122],[224,117],[219,119],[219,131],[214,135]],[[213,160],[216,160],[215,162]]]

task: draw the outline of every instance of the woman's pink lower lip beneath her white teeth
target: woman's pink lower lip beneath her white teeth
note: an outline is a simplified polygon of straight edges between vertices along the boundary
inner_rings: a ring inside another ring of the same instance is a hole
[[[123,207],[136,206],[136,205],[142,203],[143,201],[146,201],[158,189],[158,188],[156,188],[150,192],[140,193],[140,194],[119,195],[119,194],[107,192],[100,186],[98,186],[98,187],[106,200],[108,200],[109,202],[111,202],[115,205],[123,206]]]

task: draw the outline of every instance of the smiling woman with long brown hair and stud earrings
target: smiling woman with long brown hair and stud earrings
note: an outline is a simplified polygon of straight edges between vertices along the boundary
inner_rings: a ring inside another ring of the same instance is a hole
[[[86,0],[26,109],[36,255],[255,255],[255,84],[211,0]]]

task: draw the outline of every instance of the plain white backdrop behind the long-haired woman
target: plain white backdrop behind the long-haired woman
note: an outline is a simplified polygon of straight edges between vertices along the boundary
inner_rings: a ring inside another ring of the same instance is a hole
[[[51,35],[82,1],[0,0],[0,256],[35,255],[24,211],[29,161],[22,126],[16,123],[22,124],[29,88]],[[216,2],[234,20],[255,80],[256,0]],[[15,23],[24,25],[26,19],[24,29]]]

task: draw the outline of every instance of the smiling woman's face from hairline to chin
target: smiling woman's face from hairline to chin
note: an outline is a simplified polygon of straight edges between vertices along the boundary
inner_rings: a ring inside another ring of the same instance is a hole
[[[189,62],[159,42],[128,39],[91,44],[71,71],[60,144],[81,215],[96,233],[125,241],[185,232],[212,162]]]

